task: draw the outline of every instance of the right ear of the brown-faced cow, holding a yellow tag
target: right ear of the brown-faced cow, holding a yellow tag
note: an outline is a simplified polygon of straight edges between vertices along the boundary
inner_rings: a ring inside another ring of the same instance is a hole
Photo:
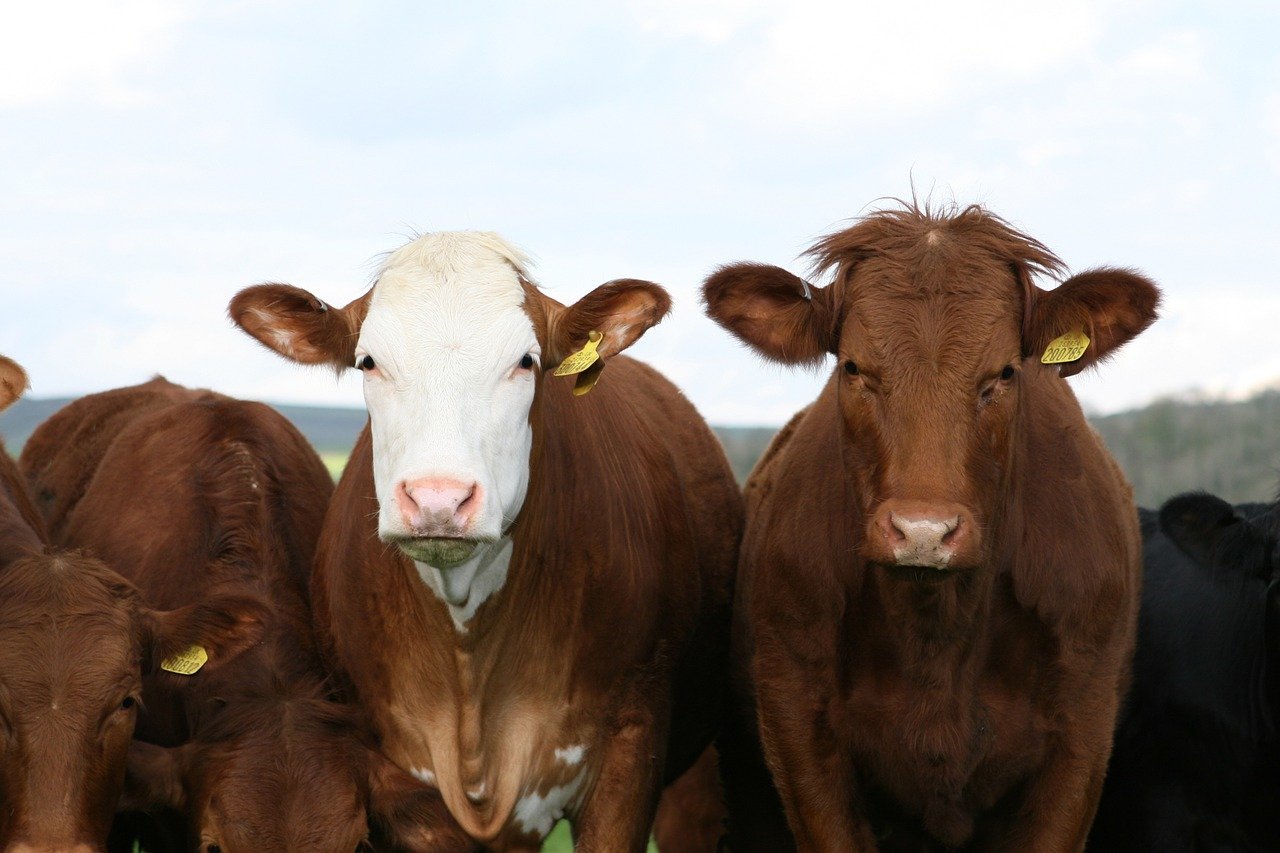
[[[1069,332],[1084,332],[1089,345],[1061,365],[1070,377],[1092,368],[1155,323],[1160,288],[1133,270],[1100,268],[1073,275],[1052,291],[1033,288],[1024,355],[1039,359]]]

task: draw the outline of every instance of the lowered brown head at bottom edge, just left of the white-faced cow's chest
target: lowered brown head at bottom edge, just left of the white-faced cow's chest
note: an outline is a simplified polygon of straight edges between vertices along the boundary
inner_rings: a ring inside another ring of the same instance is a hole
[[[123,804],[183,812],[202,853],[255,850],[470,850],[439,792],[357,736],[332,702],[242,698],[197,740],[134,743]]]

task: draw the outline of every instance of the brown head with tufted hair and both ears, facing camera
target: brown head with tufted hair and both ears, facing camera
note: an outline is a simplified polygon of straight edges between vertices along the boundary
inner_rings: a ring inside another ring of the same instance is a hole
[[[835,273],[828,287],[733,264],[708,278],[708,313],[767,359],[836,356],[831,382],[870,562],[922,580],[980,565],[1011,469],[1020,386],[1060,370],[1041,355],[1064,333],[1083,330],[1091,343],[1062,375],[1115,352],[1155,319],[1157,289],[1100,269],[1042,291],[1033,275],[1061,263],[980,207],[873,214],[810,254]]]

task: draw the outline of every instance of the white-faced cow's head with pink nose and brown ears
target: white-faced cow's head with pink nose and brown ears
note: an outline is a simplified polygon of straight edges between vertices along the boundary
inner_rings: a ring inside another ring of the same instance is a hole
[[[543,371],[603,338],[631,346],[667,313],[657,284],[616,280],[562,306],[530,283],[525,257],[489,233],[436,233],[393,252],[374,287],[342,309],[285,284],[232,300],[232,319],[302,364],[365,378],[378,532],[465,601],[524,505]]]

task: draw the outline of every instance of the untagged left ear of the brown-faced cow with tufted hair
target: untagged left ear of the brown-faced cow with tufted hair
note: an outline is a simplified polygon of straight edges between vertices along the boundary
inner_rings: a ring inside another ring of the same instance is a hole
[[[836,293],[781,266],[728,264],[703,284],[707,314],[765,359],[818,364],[836,351]]]

